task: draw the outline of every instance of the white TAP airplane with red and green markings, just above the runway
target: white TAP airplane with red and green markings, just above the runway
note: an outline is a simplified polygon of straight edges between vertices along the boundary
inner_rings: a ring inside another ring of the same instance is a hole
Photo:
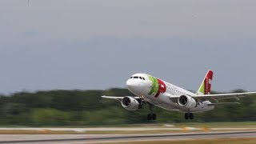
[[[214,106],[240,104],[238,102],[219,102],[222,99],[239,98],[255,95],[256,92],[233,94],[210,94],[213,71],[208,70],[196,94],[189,90],[155,78],[150,74],[134,74],[127,81],[126,86],[135,96],[102,96],[102,98],[116,99],[126,110],[139,110],[148,104],[150,113],[148,120],[156,120],[154,106],[166,110],[177,110],[184,114],[185,119],[193,119],[194,113],[214,110]]]

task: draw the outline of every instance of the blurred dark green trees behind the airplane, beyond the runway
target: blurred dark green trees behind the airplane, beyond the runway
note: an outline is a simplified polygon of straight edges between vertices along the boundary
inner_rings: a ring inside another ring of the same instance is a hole
[[[234,92],[242,92],[235,90]],[[216,92],[213,92],[216,93]],[[18,126],[89,126],[147,123],[148,107],[128,111],[120,102],[102,99],[102,95],[133,95],[126,89],[52,90],[21,92],[0,97],[0,125]],[[230,100],[229,102],[237,102]],[[194,114],[185,120],[183,114],[155,108],[155,122],[239,122],[256,121],[256,95],[241,98],[241,105],[218,106],[215,110]],[[151,121],[150,121],[151,122]],[[149,122],[149,123],[150,123]]]

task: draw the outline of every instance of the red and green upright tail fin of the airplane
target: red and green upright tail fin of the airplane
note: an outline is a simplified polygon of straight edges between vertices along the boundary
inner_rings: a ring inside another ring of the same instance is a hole
[[[214,72],[208,70],[206,77],[203,79],[201,86],[196,94],[210,94],[211,81],[213,80]]]

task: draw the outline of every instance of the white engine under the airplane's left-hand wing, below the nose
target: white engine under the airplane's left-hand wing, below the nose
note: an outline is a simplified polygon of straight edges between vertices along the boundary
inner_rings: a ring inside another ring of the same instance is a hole
[[[139,102],[132,97],[126,96],[122,98],[122,107],[126,110],[138,110]]]

